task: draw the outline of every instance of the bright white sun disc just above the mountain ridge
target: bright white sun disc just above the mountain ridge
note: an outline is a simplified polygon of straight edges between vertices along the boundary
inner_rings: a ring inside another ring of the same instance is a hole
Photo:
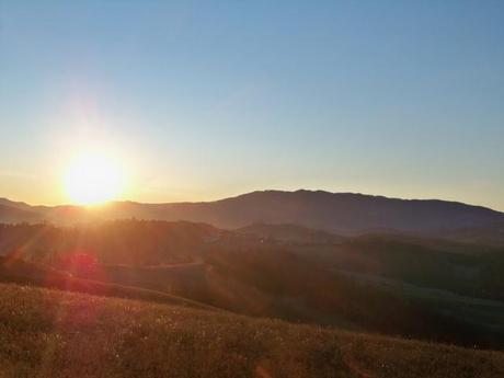
[[[79,205],[99,205],[124,190],[124,174],[110,157],[90,152],[75,159],[65,175],[65,190]]]

